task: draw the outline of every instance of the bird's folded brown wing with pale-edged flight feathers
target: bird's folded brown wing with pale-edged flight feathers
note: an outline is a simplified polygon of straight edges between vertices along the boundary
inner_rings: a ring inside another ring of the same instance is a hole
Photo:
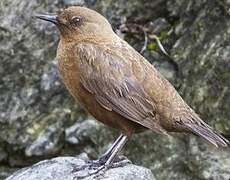
[[[156,115],[155,104],[132,72],[132,62],[95,44],[76,46],[80,81],[105,109],[156,132],[167,134]]]

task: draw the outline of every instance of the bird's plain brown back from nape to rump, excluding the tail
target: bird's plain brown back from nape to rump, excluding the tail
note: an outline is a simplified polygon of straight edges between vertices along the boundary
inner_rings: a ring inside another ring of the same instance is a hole
[[[120,39],[108,49],[109,53],[116,54],[125,62],[131,63],[132,74],[151,98],[165,129],[174,129],[176,116],[188,112],[194,113],[171,83],[128,43]]]

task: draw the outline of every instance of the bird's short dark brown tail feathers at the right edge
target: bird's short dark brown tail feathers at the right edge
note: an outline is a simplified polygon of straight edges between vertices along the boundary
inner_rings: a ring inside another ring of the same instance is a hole
[[[195,133],[198,136],[201,136],[211,144],[215,145],[216,147],[223,146],[227,147],[230,145],[229,141],[224,138],[222,135],[214,132],[210,126],[206,123],[202,122],[202,124],[195,124],[195,123],[184,123],[184,126],[189,131]]]

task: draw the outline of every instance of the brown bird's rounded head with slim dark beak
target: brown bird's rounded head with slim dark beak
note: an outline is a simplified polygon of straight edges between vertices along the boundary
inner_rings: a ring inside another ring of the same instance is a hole
[[[114,34],[105,17],[86,7],[72,6],[57,15],[39,14],[36,17],[55,24],[61,38],[68,41],[109,37]]]

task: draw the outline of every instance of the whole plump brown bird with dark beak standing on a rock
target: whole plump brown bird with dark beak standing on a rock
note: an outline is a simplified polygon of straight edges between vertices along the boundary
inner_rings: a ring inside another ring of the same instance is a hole
[[[58,69],[70,94],[98,121],[121,135],[91,167],[113,164],[135,133],[185,132],[216,147],[229,141],[182,99],[173,85],[114,31],[100,13],[81,6],[58,14],[37,14],[60,32]]]

